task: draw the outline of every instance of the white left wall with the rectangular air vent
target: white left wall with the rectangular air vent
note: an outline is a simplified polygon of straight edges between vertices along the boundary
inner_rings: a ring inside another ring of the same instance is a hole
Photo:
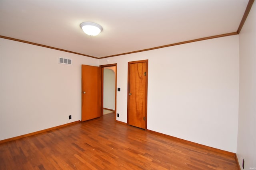
[[[98,59],[0,39],[0,140],[80,120],[81,64]]]

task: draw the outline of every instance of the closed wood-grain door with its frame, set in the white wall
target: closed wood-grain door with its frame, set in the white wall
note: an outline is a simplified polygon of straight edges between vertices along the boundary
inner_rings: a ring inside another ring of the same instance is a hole
[[[146,129],[148,60],[128,63],[127,123]]]

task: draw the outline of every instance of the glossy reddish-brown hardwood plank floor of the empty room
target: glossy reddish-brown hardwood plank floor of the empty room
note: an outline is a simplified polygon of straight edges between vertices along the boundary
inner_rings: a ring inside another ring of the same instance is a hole
[[[233,156],[116,123],[114,113],[0,144],[0,170],[237,170]]]

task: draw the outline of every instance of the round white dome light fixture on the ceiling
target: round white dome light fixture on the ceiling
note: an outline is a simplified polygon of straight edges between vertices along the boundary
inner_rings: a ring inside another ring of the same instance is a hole
[[[83,22],[80,27],[84,33],[90,36],[98,35],[103,30],[102,26],[94,22]]]

